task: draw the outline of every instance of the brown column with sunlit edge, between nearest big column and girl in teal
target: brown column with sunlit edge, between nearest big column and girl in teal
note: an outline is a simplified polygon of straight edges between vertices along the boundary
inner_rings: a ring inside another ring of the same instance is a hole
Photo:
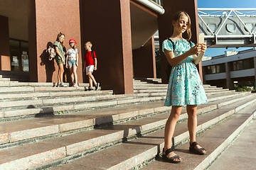
[[[143,47],[132,50],[134,77],[156,78],[156,57],[154,48],[154,36],[152,36]]]

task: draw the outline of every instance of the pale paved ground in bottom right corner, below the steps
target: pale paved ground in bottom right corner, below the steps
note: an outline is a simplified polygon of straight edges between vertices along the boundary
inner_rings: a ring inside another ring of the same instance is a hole
[[[256,169],[256,120],[250,123],[208,170]]]

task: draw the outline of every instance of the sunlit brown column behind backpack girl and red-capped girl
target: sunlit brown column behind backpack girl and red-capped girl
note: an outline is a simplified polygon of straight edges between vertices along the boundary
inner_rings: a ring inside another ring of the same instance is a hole
[[[74,38],[81,50],[79,0],[28,0],[29,71],[31,81],[57,81],[58,65],[49,61],[46,49],[58,33],[65,34],[65,47]],[[82,82],[82,57],[79,54],[78,82]]]

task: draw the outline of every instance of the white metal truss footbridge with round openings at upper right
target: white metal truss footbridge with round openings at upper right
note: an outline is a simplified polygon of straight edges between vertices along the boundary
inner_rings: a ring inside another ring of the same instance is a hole
[[[256,8],[198,8],[198,18],[208,46],[256,46]]]

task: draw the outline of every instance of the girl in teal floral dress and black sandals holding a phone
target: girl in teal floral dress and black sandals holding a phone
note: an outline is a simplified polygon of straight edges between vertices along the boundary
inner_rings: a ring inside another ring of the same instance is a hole
[[[191,44],[188,42],[191,38],[191,19],[188,13],[184,11],[175,13],[172,26],[171,37],[164,40],[162,45],[163,52],[172,67],[164,103],[165,106],[171,106],[171,114],[166,122],[162,155],[169,162],[180,163],[182,159],[171,148],[171,139],[181,115],[182,106],[186,106],[188,113],[189,150],[196,154],[206,154],[206,149],[200,147],[196,142],[196,106],[207,103],[208,100],[196,65],[193,63],[193,55],[201,57],[204,55],[206,44],[195,45],[193,42]],[[188,39],[182,37],[185,34]]]

